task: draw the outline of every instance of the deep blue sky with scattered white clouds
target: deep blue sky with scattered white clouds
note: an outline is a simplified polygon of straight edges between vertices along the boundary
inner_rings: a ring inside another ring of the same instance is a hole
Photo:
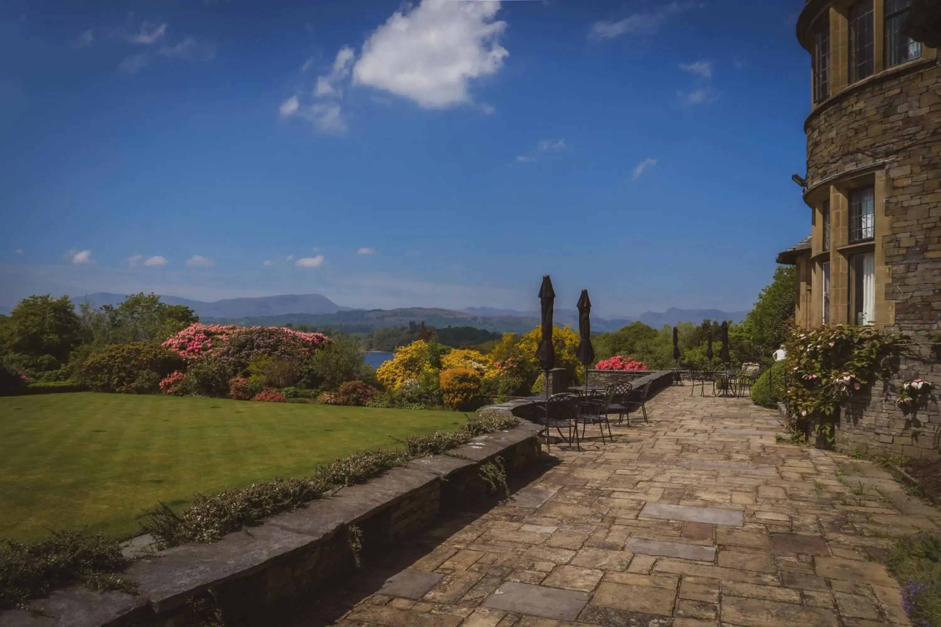
[[[748,308],[809,227],[803,4],[8,0],[0,305]]]

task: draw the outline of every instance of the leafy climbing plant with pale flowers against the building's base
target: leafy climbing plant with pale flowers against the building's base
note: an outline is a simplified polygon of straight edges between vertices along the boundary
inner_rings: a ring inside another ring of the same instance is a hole
[[[907,336],[870,326],[793,329],[785,347],[791,408],[832,440],[837,410],[876,379],[898,372],[908,343]]]

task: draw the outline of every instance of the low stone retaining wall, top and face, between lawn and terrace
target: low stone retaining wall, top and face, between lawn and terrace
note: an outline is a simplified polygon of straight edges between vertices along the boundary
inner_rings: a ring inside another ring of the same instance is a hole
[[[137,583],[137,596],[64,588],[34,602],[39,613],[0,613],[0,627],[189,627],[206,618],[194,609],[200,603],[218,608],[230,627],[263,624],[276,608],[357,568],[352,526],[361,532],[359,556],[368,561],[444,511],[494,499],[481,466],[500,457],[508,477],[534,466],[539,431],[523,422],[482,435],[221,541],[183,544],[136,561],[124,574]]]

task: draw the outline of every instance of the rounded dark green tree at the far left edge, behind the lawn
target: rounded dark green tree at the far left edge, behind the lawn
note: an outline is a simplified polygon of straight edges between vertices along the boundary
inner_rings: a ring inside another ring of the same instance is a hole
[[[35,375],[55,370],[82,340],[82,322],[68,296],[29,296],[13,307],[3,323],[9,360]]]

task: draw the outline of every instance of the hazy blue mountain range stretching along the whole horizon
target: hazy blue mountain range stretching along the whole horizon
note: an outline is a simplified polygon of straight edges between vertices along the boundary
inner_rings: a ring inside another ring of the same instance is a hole
[[[118,305],[123,294],[96,292],[72,298],[76,306],[88,302],[94,306]],[[424,321],[435,327],[472,326],[487,331],[524,333],[539,323],[535,310],[502,309],[497,307],[467,307],[461,311],[433,307],[404,307],[397,309],[354,309],[337,305],[320,294],[280,294],[258,298],[229,298],[212,303],[178,296],[161,296],[167,305],[188,306],[205,322],[226,324],[282,325],[310,324],[330,326],[349,332],[365,332],[377,327],[405,326],[410,321]],[[9,307],[0,308],[8,313]],[[719,309],[679,309],[670,307],[664,312],[646,311],[639,318],[592,317],[592,330],[616,331],[632,321],[640,320],[654,328],[678,322],[699,322],[706,318],[715,321],[742,321],[745,311],[726,312]],[[554,321],[578,327],[578,311],[557,308]]]

